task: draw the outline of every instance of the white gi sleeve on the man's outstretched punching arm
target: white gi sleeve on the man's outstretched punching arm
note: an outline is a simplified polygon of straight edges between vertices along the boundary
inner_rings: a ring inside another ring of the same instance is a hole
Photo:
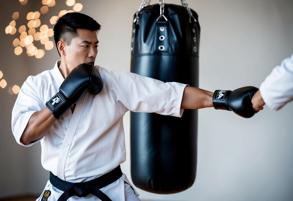
[[[117,101],[132,112],[158,113],[181,117],[181,101],[186,84],[162,82],[126,71],[111,71],[110,81]]]

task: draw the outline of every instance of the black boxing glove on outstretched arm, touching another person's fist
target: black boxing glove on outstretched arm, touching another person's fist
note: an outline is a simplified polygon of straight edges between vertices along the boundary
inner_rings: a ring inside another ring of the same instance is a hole
[[[216,90],[213,95],[213,105],[216,110],[229,110],[235,114],[250,118],[256,111],[252,108],[251,99],[258,91],[254,86],[245,86],[234,91]]]

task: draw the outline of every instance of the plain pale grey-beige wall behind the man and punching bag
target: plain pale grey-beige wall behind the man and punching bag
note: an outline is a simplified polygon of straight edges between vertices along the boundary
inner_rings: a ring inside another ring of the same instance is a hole
[[[66,0],[56,0],[42,24],[60,10],[71,10]],[[76,0],[82,13],[96,19],[98,35],[96,65],[108,70],[130,71],[130,43],[133,15],[140,0]],[[152,1],[156,4],[158,1]],[[179,0],[166,0],[180,4]],[[273,67],[293,53],[292,0],[189,0],[199,15],[201,26],[199,87],[214,91],[242,86],[259,87]],[[5,34],[13,12],[26,24],[26,14],[39,11],[41,0],[1,1],[1,65],[7,86],[0,88],[0,198],[8,195],[39,195],[49,178],[40,164],[40,143],[18,145],[11,132],[11,111],[17,95],[9,86],[21,86],[29,75],[52,69],[59,59],[56,47],[41,59],[25,52],[14,54],[12,41],[19,37]],[[51,27],[50,27],[51,26]],[[50,38],[53,40],[53,37]],[[43,48],[40,43],[35,43]],[[197,176],[191,188],[181,193],[157,195],[137,188],[142,200],[293,200],[293,104],[279,111],[267,106],[250,119],[233,112],[205,108],[198,116]],[[98,112],[98,111],[97,111]],[[184,115],[184,114],[183,114]],[[124,117],[127,160],[122,170],[130,176],[130,115]],[[180,173],[178,173],[180,174]]]

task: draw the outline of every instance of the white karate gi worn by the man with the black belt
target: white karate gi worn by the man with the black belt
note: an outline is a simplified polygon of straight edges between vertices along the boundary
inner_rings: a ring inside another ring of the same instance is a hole
[[[62,180],[73,183],[93,180],[125,161],[123,115],[128,110],[177,117],[183,113],[180,105],[187,85],[164,83],[126,71],[108,72],[96,66],[103,79],[103,90],[98,95],[86,92],[74,113],[68,110],[41,139],[24,145],[20,137],[31,115],[46,107],[45,103],[64,81],[59,65],[57,61],[52,70],[29,76],[24,82],[12,111],[12,132],[23,146],[40,141],[42,166]],[[101,190],[113,201],[124,200],[124,188],[131,189],[124,181],[129,183],[125,174]],[[45,190],[52,192],[48,201],[57,200],[63,193],[50,181]],[[69,200],[81,198],[74,196]],[[82,200],[99,199],[90,194]]]

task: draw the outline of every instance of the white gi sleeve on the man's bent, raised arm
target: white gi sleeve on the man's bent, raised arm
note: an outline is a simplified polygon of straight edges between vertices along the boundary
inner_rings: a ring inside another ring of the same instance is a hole
[[[36,111],[40,111],[42,108],[44,108],[44,105],[33,86],[33,76],[29,76],[28,79],[23,83],[12,110],[12,133],[16,139],[16,142],[25,147],[29,147],[39,142],[43,138],[42,137],[28,145],[25,145],[20,141],[21,135],[26,125],[28,124],[30,117]]]

